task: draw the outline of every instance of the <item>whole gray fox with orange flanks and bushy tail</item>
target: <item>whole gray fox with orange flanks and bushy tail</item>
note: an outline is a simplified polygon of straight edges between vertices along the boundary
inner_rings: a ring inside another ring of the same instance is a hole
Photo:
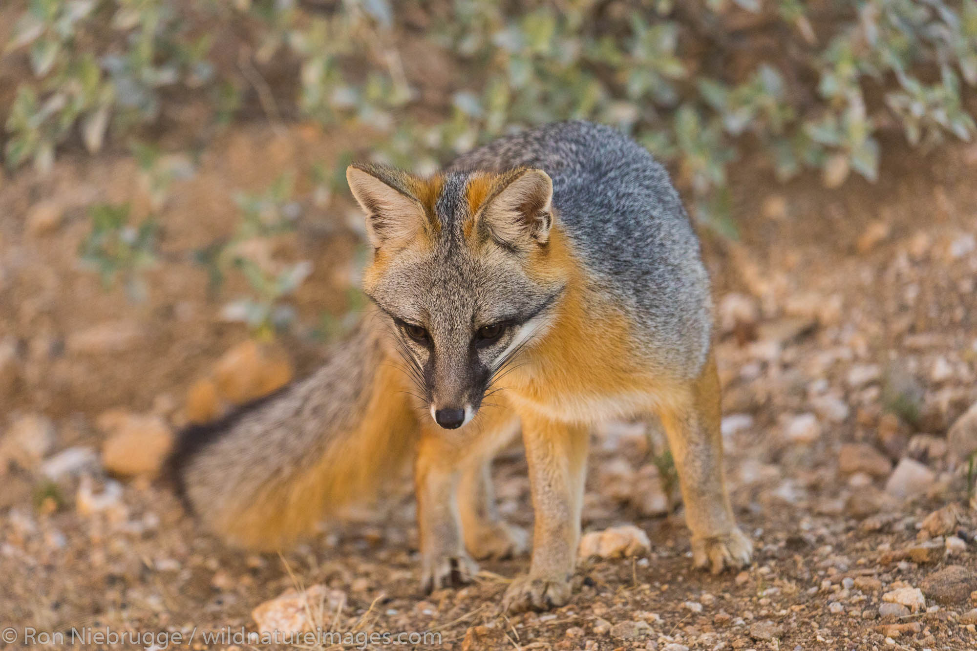
[[[510,611],[571,592],[590,425],[658,417],[695,565],[752,553],[724,486],[709,281],[667,172],[615,129],[550,124],[419,178],[347,170],[374,252],[372,307],[303,381],[192,428],[192,508],[232,542],[276,548],[413,461],[427,589],[526,550],[503,522],[492,456],[519,431],[535,512]]]

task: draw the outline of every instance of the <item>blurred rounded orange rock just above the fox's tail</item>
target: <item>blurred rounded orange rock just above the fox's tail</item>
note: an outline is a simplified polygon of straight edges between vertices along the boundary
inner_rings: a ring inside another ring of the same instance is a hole
[[[218,360],[214,382],[223,398],[242,405],[280,389],[293,374],[292,363],[282,347],[248,340]]]

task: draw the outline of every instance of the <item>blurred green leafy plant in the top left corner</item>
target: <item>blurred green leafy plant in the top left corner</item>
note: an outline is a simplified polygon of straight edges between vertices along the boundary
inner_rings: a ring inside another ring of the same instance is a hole
[[[209,81],[209,48],[210,36],[187,36],[166,0],[28,0],[6,48],[29,53],[33,76],[7,120],[7,165],[33,160],[46,171],[75,129],[98,152],[109,126],[155,121],[160,89]]]

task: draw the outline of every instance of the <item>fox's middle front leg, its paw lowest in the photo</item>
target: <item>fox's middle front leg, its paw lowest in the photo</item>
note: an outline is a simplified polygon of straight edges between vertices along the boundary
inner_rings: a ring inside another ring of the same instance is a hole
[[[545,610],[570,598],[588,430],[531,415],[523,417],[523,439],[535,523],[530,572],[516,579],[502,598],[502,608],[510,612]]]

